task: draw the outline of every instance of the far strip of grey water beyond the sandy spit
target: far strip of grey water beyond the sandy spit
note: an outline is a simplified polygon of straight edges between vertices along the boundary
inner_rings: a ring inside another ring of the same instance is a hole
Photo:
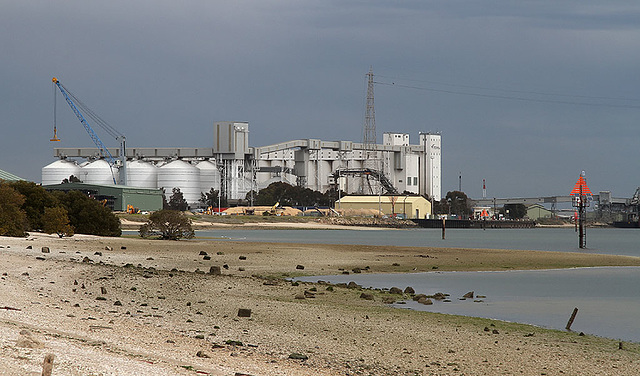
[[[416,230],[212,230],[198,237],[253,242],[366,244],[456,248],[495,248],[562,252],[588,252],[640,256],[640,231],[635,229],[587,229],[587,249],[578,248],[572,228],[440,229]]]

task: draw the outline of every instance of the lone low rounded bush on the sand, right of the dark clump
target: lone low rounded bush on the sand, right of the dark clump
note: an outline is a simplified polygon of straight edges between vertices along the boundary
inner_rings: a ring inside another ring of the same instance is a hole
[[[140,226],[140,236],[160,236],[164,240],[191,239],[195,232],[191,219],[177,210],[159,210],[151,213],[147,223]]]

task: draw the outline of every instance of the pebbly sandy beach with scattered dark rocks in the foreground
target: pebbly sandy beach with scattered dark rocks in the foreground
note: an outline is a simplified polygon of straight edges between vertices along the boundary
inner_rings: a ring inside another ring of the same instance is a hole
[[[640,265],[640,258],[44,234],[0,238],[0,247],[3,375],[40,375],[46,354],[55,356],[53,375],[633,375],[640,369],[635,343],[620,349],[618,341],[575,332],[399,310],[385,302],[409,295],[285,280],[356,268],[622,266]],[[250,316],[239,316],[241,309]]]

